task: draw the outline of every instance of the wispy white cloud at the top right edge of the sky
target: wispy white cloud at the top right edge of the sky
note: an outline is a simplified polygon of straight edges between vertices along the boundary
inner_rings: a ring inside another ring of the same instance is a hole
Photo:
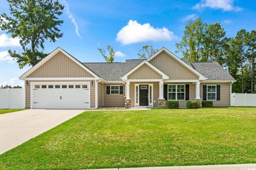
[[[233,0],[201,0],[192,8],[195,10],[202,10],[205,7],[214,9],[222,9],[223,11],[241,11],[243,8],[234,6]]]

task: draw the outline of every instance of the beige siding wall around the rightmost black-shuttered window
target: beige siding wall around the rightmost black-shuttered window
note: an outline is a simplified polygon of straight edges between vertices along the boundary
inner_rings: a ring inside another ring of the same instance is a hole
[[[203,85],[220,85],[220,100],[213,101],[213,106],[230,106],[230,84],[229,83],[201,83],[200,98],[203,99]]]

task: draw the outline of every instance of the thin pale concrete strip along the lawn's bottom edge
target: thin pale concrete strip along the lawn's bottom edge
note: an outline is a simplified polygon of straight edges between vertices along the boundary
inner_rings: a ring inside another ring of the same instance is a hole
[[[111,169],[94,169],[94,170],[256,170],[256,164],[162,166],[162,167],[111,168]]]

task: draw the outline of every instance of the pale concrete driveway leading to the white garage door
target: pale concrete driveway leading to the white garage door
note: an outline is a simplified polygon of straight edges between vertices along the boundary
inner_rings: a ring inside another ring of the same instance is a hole
[[[0,154],[83,112],[73,109],[28,109],[0,115]]]

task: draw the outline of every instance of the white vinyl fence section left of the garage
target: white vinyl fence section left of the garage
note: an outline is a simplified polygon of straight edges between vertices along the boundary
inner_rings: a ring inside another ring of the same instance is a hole
[[[0,109],[25,108],[24,89],[0,89]]]

